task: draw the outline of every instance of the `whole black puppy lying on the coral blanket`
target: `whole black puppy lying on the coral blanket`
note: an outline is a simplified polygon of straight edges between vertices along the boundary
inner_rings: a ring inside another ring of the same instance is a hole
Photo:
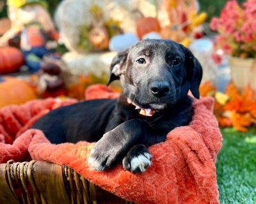
[[[89,163],[105,170],[118,161],[124,169],[145,171],[147,147],[164,142],[173,128],[193,115],[189,89],[199,98],[202,67],[193,54],[170,40],[143,40],[111,63],[109,84],[120,78],[120,99],[98,99],[53,110],[32,128],[52,143],[95,142]]]

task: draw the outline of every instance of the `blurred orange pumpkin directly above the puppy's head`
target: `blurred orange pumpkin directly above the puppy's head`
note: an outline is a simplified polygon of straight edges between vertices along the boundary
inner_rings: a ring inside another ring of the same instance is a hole
[[[159,21],[154,17],[143,17],[137,20],[136,22],[136,31],[140,39],[150,32],[157,32],[161,30]]]

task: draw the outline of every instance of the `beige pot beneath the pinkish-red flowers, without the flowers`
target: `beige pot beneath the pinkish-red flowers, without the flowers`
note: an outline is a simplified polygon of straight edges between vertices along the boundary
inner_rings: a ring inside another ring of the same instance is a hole
[[[256,59],[242,59],[239,57],[229,57],[231,79],[239,91],[250,84],[256,92]]]

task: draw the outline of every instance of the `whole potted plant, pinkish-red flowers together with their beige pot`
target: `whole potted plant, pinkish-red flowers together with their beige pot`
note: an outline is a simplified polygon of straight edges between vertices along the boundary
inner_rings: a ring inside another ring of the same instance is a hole
[[[256,13],[255,0],[227,1],[219,18],[212,18],[211,29],[218,31],[216,50],[220,61],[221,55],[229,55],[231,77],[242,91],[250,84],[256,91]]]

